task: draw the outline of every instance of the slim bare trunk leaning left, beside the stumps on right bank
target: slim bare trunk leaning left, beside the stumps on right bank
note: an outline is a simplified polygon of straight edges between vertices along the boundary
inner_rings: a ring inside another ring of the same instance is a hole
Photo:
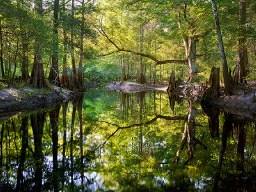
[[[225,85],[226,91],[229,94],[232,94],[230,79],[229,79],[229,75],[228,75],[228,63],[227,63],[226,54],[224,51],[224,45],[223,45],[223,41],[222,41],[222,35],[221,35],[221,31],[220,31],[220,21],[219,21],[218,10],[217,10],[215,0],[211,0],[211,2],[212,2],[212,9],[214,12],[215,29],[217,32],[219,47],[220,47],[220,56],[221,56],[221,60],[222,60],[222,71],[223,71],[224,85]]]

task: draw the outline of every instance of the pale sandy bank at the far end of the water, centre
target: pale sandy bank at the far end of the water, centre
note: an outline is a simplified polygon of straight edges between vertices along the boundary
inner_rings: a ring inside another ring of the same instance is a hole
[[[120,84],[119,82],[111,82],[106,86],[108,89],[113,91],[122,91],[126,93],[135,93],[135,92],[142,92],[142,91],[150,91],[150,90],[158,90],[167,92],[168,86],[150,86],[146,84],[140,84],[136,82],[125,82]]]

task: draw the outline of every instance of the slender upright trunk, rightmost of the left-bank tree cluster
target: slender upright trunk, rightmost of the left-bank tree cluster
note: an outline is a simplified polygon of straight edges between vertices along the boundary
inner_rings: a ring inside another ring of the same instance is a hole
[[[80,54],[79,54],[79,66],[77,71],[78,80],[81,87],[84,89],[84,76],[83,76],[83,53],[84,53],[84,0],[82,0],[82,16],[81,16],[81,34],[80,34]]]

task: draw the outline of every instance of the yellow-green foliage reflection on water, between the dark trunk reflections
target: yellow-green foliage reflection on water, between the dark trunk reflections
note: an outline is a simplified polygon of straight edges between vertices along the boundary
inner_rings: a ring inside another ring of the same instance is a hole
[[[154,102],[155,100],[155,102]],[[74,101],[81,105],[80,101]],[[66,128],[63,123],[63,108],[60,108],[58,123],[58,169],[53,174],[52,161],[52,127],[49,115],[46,116],[43,136],[42,154],[44,163],[43,190],[54,189],[56,176],[59,190],[116,190],[116,191],[165,191],[165,190],[212,190],[217,161],[221,148],[221,137],[212,138],[208,128],[207,116],[203,116],[201,106],[194,103],[197,109],[195,118],[195,136],[210,149],[205,150],[194,142],[193,159],[188,160],[188,145],[180,150],[180,161],[174,164],[176,152],[180,147],[184,120],[170,121],[159,118],[150,124],[155,116],[186,116],[189,102],[176,103],[172,112],[168,95],[164,93],[118,93],[104,89],[95,89],[84,93],[82,103],[82,132],[79,127],[78,112],[74,111],[73,137],[71,140],[71,122],[73,105],[70,102],[66,112]],[[77,107],[79,109],[79,106]],[[26,116],[26,115],[25,115]],[[1,185],[16,188],[16,178],[20,164],[22,143],[24,144],[21,126],[24,116],[16,116],[2,122]],[[118,124],[117,129],[107,123]],[[129,125],[140,124],[141,126]],[[219,126],[224,124],[223,114]],[[244,176],[245,189],[255,186],[255,129],[254,123],[245,124],[247,139],[245,145]],[[26,191],[34,186],[34,140],[30,120],[28,127],[28,146],[24,160],[20,187]],[[235,131],[234,131],[235,132]],[[222,129],[220,129],[220,135]],[[141,137],[140,137],[141,135]],[[64,140],[65,138],[65,140]],[[109,138],[109,139],[108,139]],[[142,138],[142,139],[141,139]],[[105,145],[102,147],[102,144]],[[82,144],[82,145],[81,145]],[[71,146],[73,150],[71,151]],[[142,148],[140,149],[140,146]],[[102,147],[102,148],[101,148]],[[65,150],[65,153],[63,152]],[[83,152],[81,152],[83,151]],[[141,152],[140,152],[141,151]],[[63,156],[63,153],[65,154]],[[71,158],[72,153],[72,158]],[[63,158],[64,157],[64,158]],[[226,153],[221,170],[219,187],[236,190],[237,144],[235,134],[227,140]],[[73,182],[71,181],[73,175]],[[82,177],[81,177],[82,176]],[[81,184],[83,180],[83,184]],[[62,185],[63,184],[63,185]]]

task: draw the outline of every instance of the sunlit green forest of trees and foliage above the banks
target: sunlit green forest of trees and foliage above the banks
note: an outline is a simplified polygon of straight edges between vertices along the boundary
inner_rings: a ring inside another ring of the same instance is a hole
[[[213,2],[227,67],[240,83],[255,78],[255,2]],[[3,0],[0,10],[2,86],[29,78],[75,89],[86,81],[156,84],[172,70],[205,82],[221,66],[209,1]]]

